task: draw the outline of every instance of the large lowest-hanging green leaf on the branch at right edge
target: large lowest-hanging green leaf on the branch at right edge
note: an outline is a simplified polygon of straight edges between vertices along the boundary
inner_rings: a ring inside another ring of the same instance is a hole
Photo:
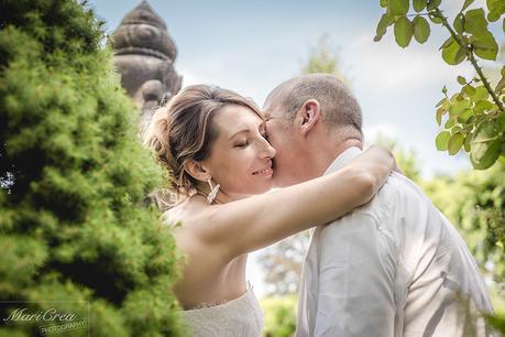
[[[498,138],[499,129],[491,120],[482,121],[475,129],[472,138],[470,159],[473,167],[485,170],[493,165],[499,156],[502,142]]]

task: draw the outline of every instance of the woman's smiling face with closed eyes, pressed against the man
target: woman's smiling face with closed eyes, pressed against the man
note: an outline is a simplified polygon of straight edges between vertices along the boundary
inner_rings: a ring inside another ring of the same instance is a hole
[[[265,122],[251,109],[230,105],[216,113],[212,127],[218,137],[202,164],[220,192],[238,199],[271,189],[275,150],[266,140]]]

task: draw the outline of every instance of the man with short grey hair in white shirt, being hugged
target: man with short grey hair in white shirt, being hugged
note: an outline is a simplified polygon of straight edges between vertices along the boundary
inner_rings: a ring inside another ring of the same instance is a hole
[[[336,172],[362,151],[360,106],[334,76],[292,78],[264,110],[279,187]],[[393,173],[369,204],[314,232],[296,336],[488,336],[477,311],[493,308],[462,238]]]

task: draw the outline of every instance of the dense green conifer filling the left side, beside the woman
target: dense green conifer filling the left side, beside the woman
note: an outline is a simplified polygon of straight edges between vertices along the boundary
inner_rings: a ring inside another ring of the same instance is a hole
[[[164,177],[111,56],[86,3],[0,3],[0,314],[85,320],[59,336],[180,336],[175,241],[143,205]],[[2,319],[0,336],[55,324]]]

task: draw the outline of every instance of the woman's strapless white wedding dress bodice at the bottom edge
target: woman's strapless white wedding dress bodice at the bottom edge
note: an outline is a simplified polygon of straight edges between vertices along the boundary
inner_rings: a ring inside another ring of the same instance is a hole
[[[263,331],[263,309],[250,285],[238,298],[180,314],[195,337],[259,337]]]

